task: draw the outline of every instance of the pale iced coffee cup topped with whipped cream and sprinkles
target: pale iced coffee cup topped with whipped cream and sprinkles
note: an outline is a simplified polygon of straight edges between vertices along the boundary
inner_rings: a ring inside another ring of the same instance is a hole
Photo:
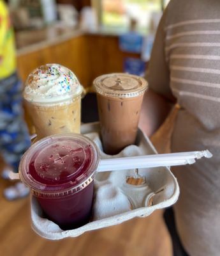
[[[43,65],[29,74],[24,99],[38,140],[57,133],[80,133],[81,93],[75,74],[61,65]]]

